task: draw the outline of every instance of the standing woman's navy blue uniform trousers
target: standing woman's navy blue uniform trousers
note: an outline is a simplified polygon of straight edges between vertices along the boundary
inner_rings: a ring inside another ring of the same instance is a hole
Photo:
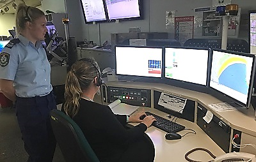
[[[56,108],[54,95],[16,100],[16,115],[28,161],[52,161],[56,139],[52,132],[49,112]]]

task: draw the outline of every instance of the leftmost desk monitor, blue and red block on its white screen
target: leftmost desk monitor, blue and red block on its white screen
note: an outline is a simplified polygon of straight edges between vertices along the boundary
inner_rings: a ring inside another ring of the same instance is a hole
[[[116,74],[162,77],[162,47],[116,46]]]

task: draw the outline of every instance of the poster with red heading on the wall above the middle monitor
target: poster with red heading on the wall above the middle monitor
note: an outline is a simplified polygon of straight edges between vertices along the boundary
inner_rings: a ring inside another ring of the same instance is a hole
[[[175,17],[175,40],[180,44],[190,38],[193,38],[194,34],[194,16],[188,17]]]

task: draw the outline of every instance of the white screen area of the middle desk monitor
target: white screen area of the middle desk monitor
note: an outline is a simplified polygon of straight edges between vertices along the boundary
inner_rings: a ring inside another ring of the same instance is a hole
[[[165,77],[206,85],[208,50],[165,48]]]

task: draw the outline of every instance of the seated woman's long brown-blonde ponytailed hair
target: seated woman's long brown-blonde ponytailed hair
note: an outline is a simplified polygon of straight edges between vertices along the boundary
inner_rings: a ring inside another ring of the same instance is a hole
[[[97,68],[97,69],[96,69]],[[94,59],[81,59],[74,63],[67,73],[65,83],[64,111],[74,117],[79,111],[79,100],[95,77],[99,77],[99,66]]]

